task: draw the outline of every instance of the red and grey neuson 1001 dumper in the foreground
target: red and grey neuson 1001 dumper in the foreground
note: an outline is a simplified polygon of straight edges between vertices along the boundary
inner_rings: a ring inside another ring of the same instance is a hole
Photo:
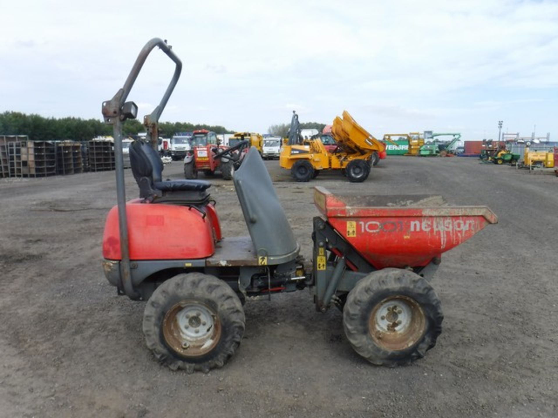
[[[135,118],[126,101],[156,46],[175,62],[161,104],[146,116],[146,141],[130,149],[139,197],[126,202],[122,121]],[[211,184],[163,180],[153,129],[180,75],[181,62],[155,38],[124,87],[103,103],[114,125],[117,206],[103,235],[103,268],[118,293],[144,300],[143,334],[170,368],[208,372],[238,349],[243,305],[310,289],[315,308],[343,312],[348,343],[373,364],[397,366],[423,357],[441,332],[440,299],[430,280],[441,254],[497,222],[485,206],[445,206],[436,196],[334,195],[314,190],[311,260],[304,260],[271,178],[251,148],[233,183],[249,236],[223,236]],[[267,354],[262,354],[267,355]]]

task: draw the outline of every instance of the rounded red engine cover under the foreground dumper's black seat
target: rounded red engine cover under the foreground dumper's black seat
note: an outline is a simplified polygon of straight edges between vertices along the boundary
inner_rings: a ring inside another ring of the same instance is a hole
[[[200,211],[187,206],[126,203],[128,241],[131,260],[203,259],[215,252],[221,230],[212,205]],[[103,257],[120,260],[118,207],[107,216],[103,234]]]

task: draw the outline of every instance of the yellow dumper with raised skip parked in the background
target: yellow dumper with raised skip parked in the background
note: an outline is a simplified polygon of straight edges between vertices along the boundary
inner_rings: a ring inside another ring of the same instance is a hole
[[[344,170],[350,182],[363,182],[370,174],[374,153],[385,155],[386,146],[362,128],[346,110],[343,119],[337,116],[331,128],[338,144],[334,153],[329,153],[319,138],[300,144],[296,114],[293,114],[289,132],[288,144],[282,147],[279,163],[282,168],[290,169],[292,177],[299,182],[307,182],[328,169]]]

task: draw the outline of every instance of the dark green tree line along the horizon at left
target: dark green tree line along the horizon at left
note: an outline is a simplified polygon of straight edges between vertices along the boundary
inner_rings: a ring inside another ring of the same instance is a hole
[[[161,122],[161,137],[172,137],[176,132],[191,132],[195,129],[207,129],[218,134],[233,133],[219,125],[193,124],[189,122]],[[138,120],[126,120],[122,127],[124,135],[136,135],[145,132]],[[95,137],[110,136],[112,125],[98,119],[81,118],[45,118],[41,115],[6,111],[0,113],[0,135],[27,135],[31,140],[52,141],[72,139],[88,141]]]

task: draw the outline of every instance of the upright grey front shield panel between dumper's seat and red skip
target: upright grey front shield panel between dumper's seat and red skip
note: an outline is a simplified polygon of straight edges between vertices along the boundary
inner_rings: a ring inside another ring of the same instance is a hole
[[[267,264],[273,264],[273,258],[281,263],[294,259],[299,246],[256,147],[249,150],[233,181],[258,256],[267,256]]]

